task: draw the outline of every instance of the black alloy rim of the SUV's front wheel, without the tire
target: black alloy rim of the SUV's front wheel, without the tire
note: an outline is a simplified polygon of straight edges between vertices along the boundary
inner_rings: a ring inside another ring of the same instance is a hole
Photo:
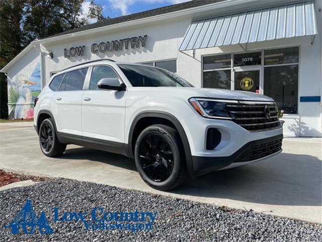
[[[174,162],[172,148],[158,135],[145,137],[140,145],[139,160],[144,173],[154,181],[164,181],[172,173]]]

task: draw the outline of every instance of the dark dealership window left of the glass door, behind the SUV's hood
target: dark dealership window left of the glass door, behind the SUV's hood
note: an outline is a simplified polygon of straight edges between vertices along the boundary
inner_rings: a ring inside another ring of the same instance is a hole
[[[203,87],[230,89],[231,54],[203,57]]]

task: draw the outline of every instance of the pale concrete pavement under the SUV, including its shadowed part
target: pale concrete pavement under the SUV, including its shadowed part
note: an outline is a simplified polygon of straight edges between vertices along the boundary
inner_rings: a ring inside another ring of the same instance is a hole
[[[18,173],[65,177],[110,186],[253,209],[322,223],[321,139],[285,138],[283,152],[267,160],[189,180],[170,192],[141,180],[132,159],[68,145],[58,158],[44,156],[33,123],[0,124],[0,168]]]

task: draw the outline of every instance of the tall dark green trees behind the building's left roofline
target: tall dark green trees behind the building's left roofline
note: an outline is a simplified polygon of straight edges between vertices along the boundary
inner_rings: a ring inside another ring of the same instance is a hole
[[[88,13],[85,0],[1,0],[0,69],[6,66],[31,41],[88,24],[88,19],[104,19],[103,8],[93,0]],[[1,74],[1,113],[8,116],[6,76]]]

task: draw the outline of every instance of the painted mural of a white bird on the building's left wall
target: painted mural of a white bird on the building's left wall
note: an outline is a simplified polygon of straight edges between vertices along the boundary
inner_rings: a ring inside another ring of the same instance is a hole
[[[40,91],[40,63],[37,63],[30,77],[24,74],[17,74],[12,79],[8,77],[9,118],[33,118],[33,102]]]

